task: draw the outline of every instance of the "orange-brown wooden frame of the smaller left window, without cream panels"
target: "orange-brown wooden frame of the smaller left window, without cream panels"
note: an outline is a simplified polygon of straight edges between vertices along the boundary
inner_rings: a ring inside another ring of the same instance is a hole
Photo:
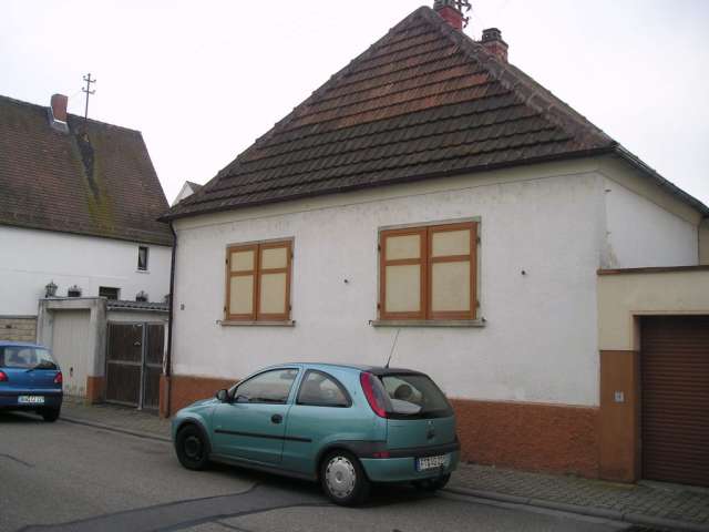
[[[263,267],[263,250],[286,248],[286,267],[285,268],[267,268]],[[254,263],[249,270],[232,272],[232,255],[239,252],[254,252]],[[292,310],[290,304],[290,284],[292,279],[292,238],[278,241],[263,241],[245,244],[232,244],[226,248],[225,262],[225,301],[224,301],[224,319],[227,323],[288,323]],[[261,296],[261,277],[268,274],[286,274],[286,291],[285,291],[285,311],[281,314],[267,314],[260,311]],[[251,311],[249,314],[232,314],[232,278],[233,277],[253,276],[253,299]]]

